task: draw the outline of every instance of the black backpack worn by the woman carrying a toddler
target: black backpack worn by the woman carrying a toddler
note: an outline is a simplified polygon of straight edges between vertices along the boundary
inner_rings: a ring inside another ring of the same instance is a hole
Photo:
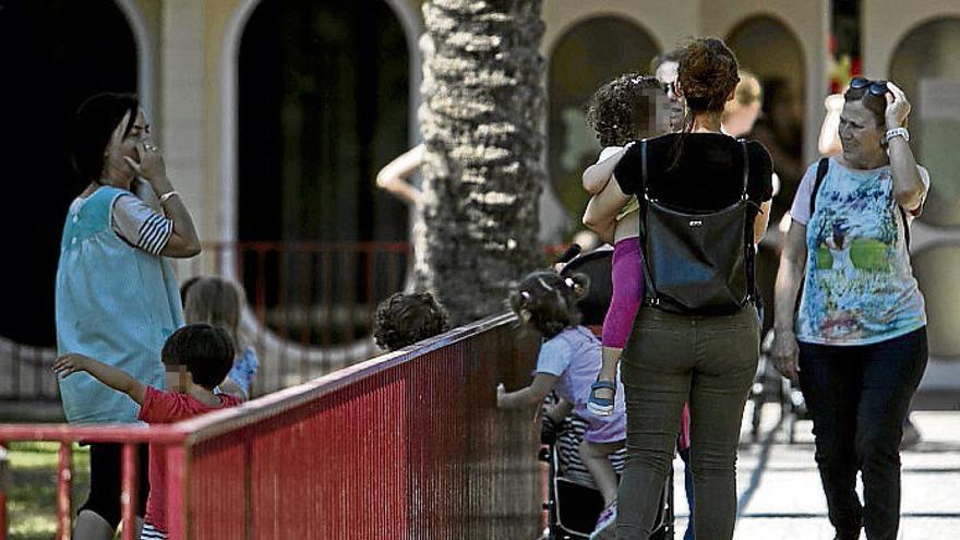
[[[749,165],[743,149],[743,190],[734,204],[715,212],[670,207],[650,195],[647,142],[640,143],[644,193],[640,245],[645,303],[688,315],[740,311],[753,297],[753,235],[747,197]]]

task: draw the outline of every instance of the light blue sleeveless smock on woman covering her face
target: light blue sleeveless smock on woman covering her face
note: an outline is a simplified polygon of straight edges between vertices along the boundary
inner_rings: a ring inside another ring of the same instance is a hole
[[[57,266],[57,351],[86,355],[163,389],[160,351],[183,325],[183,312],[170,263],[132,247],[111,226],[113,204],[130,194],[100,187],[70,207]],[[86,373],[59,383],[71,423],[136,421],[136,403]]]

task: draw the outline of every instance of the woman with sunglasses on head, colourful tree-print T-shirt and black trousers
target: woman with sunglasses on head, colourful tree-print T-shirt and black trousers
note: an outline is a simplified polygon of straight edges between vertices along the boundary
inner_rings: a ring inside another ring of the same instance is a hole
[[[929,175],[910,149],[910,101],[897,85],[857,77],[843,98],[842,153],[811,165],[791,208],[771,355],[809,408],[836,538],[865,528],[892,540],[902,424],[927,362],[908,248]]]

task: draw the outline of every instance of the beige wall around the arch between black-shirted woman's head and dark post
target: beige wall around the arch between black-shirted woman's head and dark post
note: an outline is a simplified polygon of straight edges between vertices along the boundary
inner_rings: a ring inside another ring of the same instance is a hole
[[[817,135],[827,95],[827,44],[830,10],[828,0],[765,0],[763,8],[744,0],[704,0],[698,31],[725,38],[747,19],[766,15],[781,22],[800,41],[804,55],[804,161],[817,156]]]

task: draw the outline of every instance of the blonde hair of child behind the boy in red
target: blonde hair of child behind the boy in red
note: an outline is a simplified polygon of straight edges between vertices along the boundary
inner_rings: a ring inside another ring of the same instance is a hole
[[[180,295],[187,324],[206,323],[224,328],[233,341],[236,355],[243,353],[245,339],[240,333],[240,310],[247,300],[237,284],[215,276],[195,277],[183,284]]]

